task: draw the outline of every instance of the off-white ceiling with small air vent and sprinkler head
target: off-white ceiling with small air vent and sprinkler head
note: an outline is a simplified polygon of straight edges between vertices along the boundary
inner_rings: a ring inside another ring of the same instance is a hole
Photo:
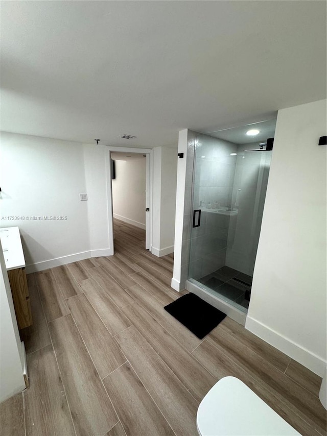
[[[1,2],[1,130],[177,143],[326,97],[326,2]],[[120,138],[123,134],[136,139]]]

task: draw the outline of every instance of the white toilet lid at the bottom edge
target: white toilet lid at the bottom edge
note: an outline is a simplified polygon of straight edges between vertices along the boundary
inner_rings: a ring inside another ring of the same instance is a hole
[[[200,436],[300,436],[236,377],[222,378],[206,394],[196,424]]]

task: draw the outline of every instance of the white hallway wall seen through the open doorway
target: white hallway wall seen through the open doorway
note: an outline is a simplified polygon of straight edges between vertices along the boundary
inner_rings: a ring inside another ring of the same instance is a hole
[[[115,159],[112,180],[113,216],[145,229],[146,158]]]

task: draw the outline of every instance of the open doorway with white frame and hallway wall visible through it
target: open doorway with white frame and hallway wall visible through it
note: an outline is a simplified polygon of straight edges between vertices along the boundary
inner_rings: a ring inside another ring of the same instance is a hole
[[[143,228],[145,249],[151,252],[152,150],[109,147],[109,161],[111,210],[109,208],[108,213],[112,254],[114,254],[114,218]]]

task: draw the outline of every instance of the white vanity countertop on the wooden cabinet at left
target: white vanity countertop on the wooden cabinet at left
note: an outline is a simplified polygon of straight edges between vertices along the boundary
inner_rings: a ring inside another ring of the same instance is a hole
[[[19,227],[0,228],[1,245],[4,252],[7,271],[25,268]]]

